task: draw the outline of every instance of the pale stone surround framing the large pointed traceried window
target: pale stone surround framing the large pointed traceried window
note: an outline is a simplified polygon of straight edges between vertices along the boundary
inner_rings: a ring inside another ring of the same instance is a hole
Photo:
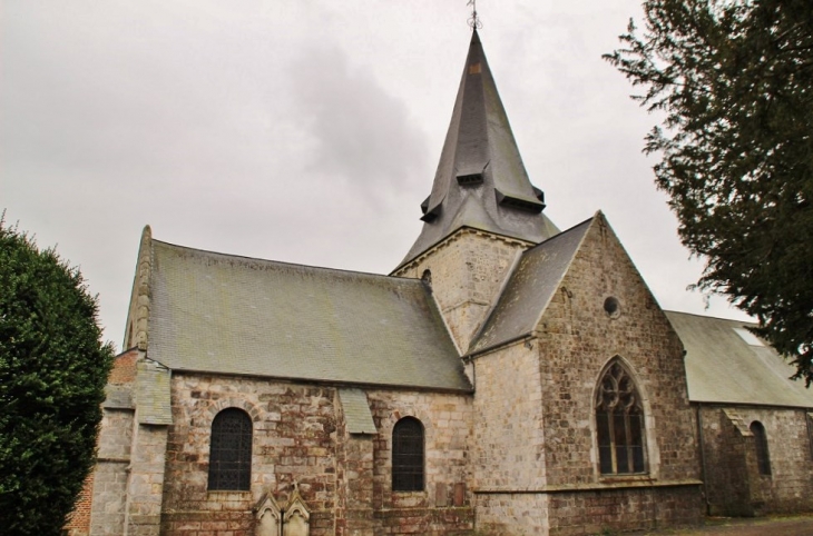
[[[598,426],[596,423],[596,409],[595,409],[595,400],[598,396],[598,389],[600,386],[600,381],[604,378],[604,375],[607,373],[609,367],[611,367],[615,363],[618,363],[621,365],[621,367],[625,369],[625,371],[629,375],[629,377],[633,379],[633,383],[635,384],[636,389],[638,390],[638,395],[640,396],[640,404],[644,408],[644,437],[645,437],[645,465],[646,465],[646,473],[630,473],[630,474],[601,474],[601,467],[600,467],[600,460],[599,460],[599,453],[598,453]],[[656,423],[655,418],[653,416],[652,405],[649,400],[649,396],[647,394],[647,390],[645,388],[645,384],[641,381],[640,377],[636,374],[635,367],[631,366],[629,360],[624,358],[623,356],[616,354],[613,357],[605,360],[604,365],[599,369],[599,373],[596,375],[594,383],[592,383],[592,393],[590,396],[590,461],[592,463],[592,472],[594,472],[594,479],[596,483],[600,484],[613,484],[613,483],[625,483],[625,482],[636,482],[636,480],[657,480],[660,476],[660,450],[657,445],[657,439],[655,435],[656,429]]]

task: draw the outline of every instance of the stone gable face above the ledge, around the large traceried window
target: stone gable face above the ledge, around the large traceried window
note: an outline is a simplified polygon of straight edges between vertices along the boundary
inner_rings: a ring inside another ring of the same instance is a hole
[[[605,310],[614,297],[617,315]],[[630,370],[645,411],[647,476],[697,480],[696,425],[683,345],[603,216],[538,326],[548,485],[598,484],[595,396],[614,358]]]

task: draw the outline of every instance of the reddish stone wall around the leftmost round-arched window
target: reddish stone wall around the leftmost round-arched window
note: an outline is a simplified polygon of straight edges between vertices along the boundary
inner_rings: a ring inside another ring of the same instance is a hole
[[[173,375],[163,534],[248,536],[252,507],[268,493],[284,506],[298,484],[311,535],[334,534],[335,390],[213,375]],[[225,408],[254,423],[251,490],[209,492],[212,421]]]

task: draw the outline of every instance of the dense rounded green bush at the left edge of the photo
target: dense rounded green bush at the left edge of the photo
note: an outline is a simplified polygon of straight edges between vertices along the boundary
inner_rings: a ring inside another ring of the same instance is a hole
[[[112,348],[81,274],[0,218],[0,533],[58,535],[90,472]]]

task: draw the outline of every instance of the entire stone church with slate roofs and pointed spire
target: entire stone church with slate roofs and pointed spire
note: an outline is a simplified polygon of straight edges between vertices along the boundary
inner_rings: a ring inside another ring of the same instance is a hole
[[[588,535],[813,508],[813,396],[566,230],[473,31],[390,275],[141,237],[71,534]]]

